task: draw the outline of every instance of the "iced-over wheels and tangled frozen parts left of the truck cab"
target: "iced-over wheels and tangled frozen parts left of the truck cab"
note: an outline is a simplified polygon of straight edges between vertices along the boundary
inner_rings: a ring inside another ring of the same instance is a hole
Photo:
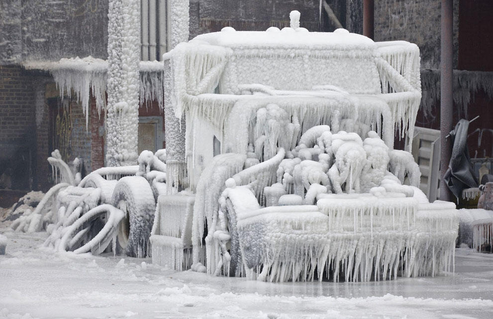
[[[74,178],[58,151],[48,160],[61,183],[11,228],[46,230],[44,246],[59,251],[99,254],[111,249],[139,258],[148,253],[155,197],[166,192],[165,150],[142,152],[138,166],[100,168],[78,184],[80,177]]]

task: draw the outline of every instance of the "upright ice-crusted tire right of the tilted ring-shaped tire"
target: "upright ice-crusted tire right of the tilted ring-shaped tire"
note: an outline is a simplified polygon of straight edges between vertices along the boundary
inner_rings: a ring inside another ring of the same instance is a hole
[[[140,176],[127,176],[116,183],[111,203],[125,213],[117,233],[117,252],[127,256],[146,256],[156,203],[149,182]]]

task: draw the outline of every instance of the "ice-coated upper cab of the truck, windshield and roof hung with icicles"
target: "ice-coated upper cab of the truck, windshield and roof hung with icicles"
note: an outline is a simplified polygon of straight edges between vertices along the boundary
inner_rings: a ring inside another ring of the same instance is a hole
[[[416,45],[376,43],[342,29],[301,29],[225,28],[165,54],[171,72],[166,114],[173,109],[178,118],[187,118],[186,128],[175,118],[167,130],[170,137],[176,135],[171,144],[187,147],[172,146],[171,153],[178,162],[188,162],[187,169],[182,164],[169,171],[169,180],[180,185],[188,171],[186,181],[195,187],[192,168],[207,164],[200,163],[195,149],[204,130],[213,132],[221,152],[246,154],[250,144],[268,146],[261,161],[276,153],[274,146],[291,149],[306,129],[320,123],[360,136],[375,130],[390,148],[395,131],[412,134],[421,97]]]

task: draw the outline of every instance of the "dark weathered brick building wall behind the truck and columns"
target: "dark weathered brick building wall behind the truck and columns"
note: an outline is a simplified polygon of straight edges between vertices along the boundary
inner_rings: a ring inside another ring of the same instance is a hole
[[[160,29],[166,24],[160,17],[165,3],[166,0],[142,0],[142,7],[146,8],[142,13],[146,30],[142,34],[143,60],[159,58],[165,50],[165,34]],[[293,9],[301,12],[301,26],[310,31],[332,31],[343,26],[362,33],[363,0],[323,0],[322,4],[320,12],[319,0],[190,0],[190,37],[224,26],[237,30],[288,26]],[[27,70],[25,66],[77,56],[106,59],[107,11],[106,0],[0,2],[0,197],[7,189],[46,190],[52,183],[46,158],[55,148],[60,149],[65,160],[82,159],[86,172],[104,165],[104,114],[96,111],[95,98],[90,98],[86,127],[78,99],[74,95],[61,97],[50,73]],[[423,92],[439,88],[436,75],[440,63],[440,1],[375,1],[374,13],[375,40],[416,43],[421,50],[422,82],[428,85]],[[454,1],[454,69],[489,71],[480,76],[491,80],[492,17],[491,1]],[[467,92],[475,90],[478,92],[469,103],[468,117],[480,113],[482,117],[471,130],[493,128],[492,112],[484,112],[493,106],[492,93],[482,88],[463,88]],[[439,100],[436,92],[431,93],[431,99],[423,100],[425,111],[418,115],[417,126],[438,128]],[[464,106],[457,105],[456,109]],[[460,112],[456,113],[458,118]],[[141,101],[139,116],[139,143],[163,147],[165,127],[157,101]],[[478,149],[491,154],[492,139],[488,133],[484,138],[480,146],[472,147],[472,154]]]

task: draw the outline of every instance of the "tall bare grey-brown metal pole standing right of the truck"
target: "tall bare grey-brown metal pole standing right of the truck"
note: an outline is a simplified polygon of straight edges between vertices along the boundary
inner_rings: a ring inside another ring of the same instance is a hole
[[[453,114],[453,0],[442,0],[440,41],[440,199],[450,201],[451,194],[443,179],[450,162],[451,142],[446,135],[452,130]]]

